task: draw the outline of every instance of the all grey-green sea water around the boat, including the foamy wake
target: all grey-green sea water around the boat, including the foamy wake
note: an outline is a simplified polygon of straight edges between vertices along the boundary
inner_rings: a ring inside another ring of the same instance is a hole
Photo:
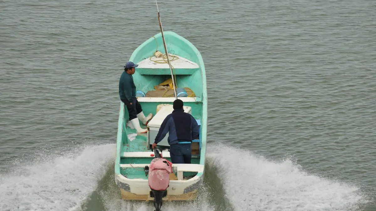
[[[201,52],[205,185],[164,210],[376,210],[376,2],[159,0]],[[0,210],[153,210],[114,184],[122,66],[155,2],[0,1]]]

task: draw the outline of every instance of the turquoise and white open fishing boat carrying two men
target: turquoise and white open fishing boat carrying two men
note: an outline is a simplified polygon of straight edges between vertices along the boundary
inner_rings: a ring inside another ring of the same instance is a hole
[[[206,151],[207,94],[201,54],[182,36],[162,31],[139,45],[129,61],[138,64],[133,74],[137,99],[143,112],[152,113],[153,118],[147,125],[140,121],[147,133],[137,133],[129,124],[126,107],[120,102],[115,181],[121,198],[154,199],[148,184],[148,169],[156,157],[151,145],[164,118],[173,111],[173,101],[181,99],[184,111],[196,119],[200,134],[199,139],[191,143],[191,164],[172,164],[173,173],[169,175],[167,194],[163,199],[194,200],[203,181]],[[167,137],[168,134],[157,147],[160,147],[162,157],[171,161]]]

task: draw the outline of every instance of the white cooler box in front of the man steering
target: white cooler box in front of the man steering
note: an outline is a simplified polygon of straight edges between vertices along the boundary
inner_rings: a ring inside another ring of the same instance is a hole
[[[183,106],[184,112],[192,114],[191,107]],[[162,122],[164,119],[173,111],[173,107],[171,104],[160,104],[157,106],[156,115],[149,121],[147,124],[147,146],[149,147],[151,144],[154,143],[155,137],[158,134],[159,128],[161,127]],[[167,141],[168,133],[162,139],[161,142],[158,143],[158,146],[170,146]]]

